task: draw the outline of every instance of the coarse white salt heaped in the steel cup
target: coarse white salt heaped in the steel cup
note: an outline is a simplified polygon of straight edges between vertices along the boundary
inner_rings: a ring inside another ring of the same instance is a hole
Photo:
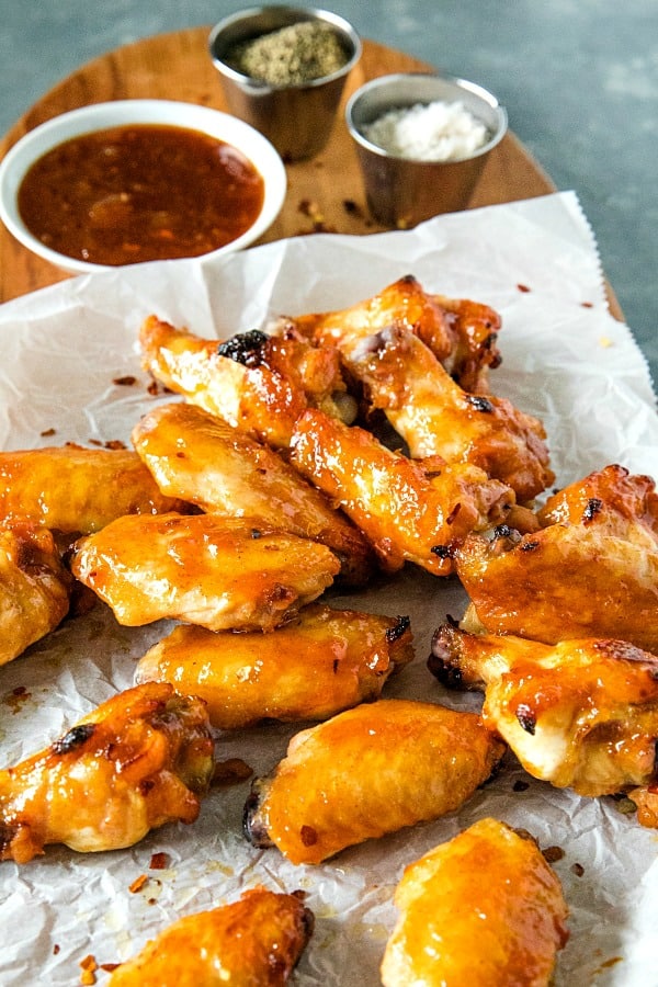
[[[417,161],[456,161],[487,143],[486,126],[461,102],[416,103],[389,110],[362,128],[390,155]]]

